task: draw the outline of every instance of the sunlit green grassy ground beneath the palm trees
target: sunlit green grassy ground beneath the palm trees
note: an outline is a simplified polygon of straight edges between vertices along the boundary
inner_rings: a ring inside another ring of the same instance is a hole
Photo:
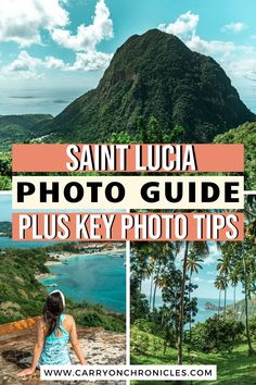
[[[135,328],[133,328],[135,331]],[[131,363],[132,364],[176,364],[177,350],[168,348],[163,353],[163,341],[144,332],[136,332],[137,338],[148,340],[148,348],[141,351],[135,351],[135,343],[131,341]],[[256,349],[256,343],[254,344]],[[219,385],[255,385],[256,384],[256,357],[247,357],[247,346],[243,341],[238,345],[233,351],[223,353],[202,353],[191,352],[191,361],[184,348],[184,364],[217,364],[218,380],[215,382],[194,382],[200,384],[219,384]],[[169,382],[170,383],[170,382]],[[181,384],[191,384],[191,382],[180,382]],[[163,384],[163,382],[143,382],[146,384]]]

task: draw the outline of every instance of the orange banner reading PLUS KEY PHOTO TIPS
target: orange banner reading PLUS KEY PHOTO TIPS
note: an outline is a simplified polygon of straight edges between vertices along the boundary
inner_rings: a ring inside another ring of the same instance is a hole
[[[14,213],[14,240],[243,240],[242,213]]]

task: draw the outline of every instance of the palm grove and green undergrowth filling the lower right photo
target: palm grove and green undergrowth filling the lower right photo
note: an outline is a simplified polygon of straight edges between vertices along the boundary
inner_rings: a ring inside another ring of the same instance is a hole
[[[207,244],[185,241],[182,248],[180,243],[132,245],[132,363],[212,362],[218,365],[217,383],[222,384],[225,382],[221,381],[227,378],[229,360],[231,367],[232,362],[238,364],[241,360],[238,368],[246,367],[246,372],[240,373],[235,368],[235,377],[242,381],[246,378],[244,384],[253,384],[248,368],[251,362],[255,362],[256,355],[255,213],[256,198],[248,196],[244,209],[244,241],[217,245],[220,250],[215,280],[215,286],[219,290],[218,313],[195,325],[197,300],[193,291],[197,286],[193,284],[192,276],[202,269],[208,252]],[[183,254],[181,268],[176,260],[180,252]],[[148,297],[141,291],[144,278],[151,282]],[[236,302],[239,283],[243,288],[244,300]],[[233,305],[228,307],[229,285],[233,287],[234,298]],[[161,307],[156,306],[157,289],[161,289]],[[206,353],[208,356],[205,356]]]

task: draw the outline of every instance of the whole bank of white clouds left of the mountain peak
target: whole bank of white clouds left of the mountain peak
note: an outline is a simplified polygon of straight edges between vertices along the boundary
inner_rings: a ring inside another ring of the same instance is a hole
[[[66,27],[69,22],[68,13],[61,7],[66,0],[10,0],[8,7],[1,9],[5,12],[0,17],[0,40],[16,41],[22,47],[33,42],[40,44],[40,28],[49,29],[52,39],[76,52],[73,64],[65,63],[62,59],[47,57],[46,59],[33,58],[26,51],[21,51],[18,57],[9,65],[2,67],[2,74],[12,74],[18,77],[38,77],[38,69],[59,69],[63,71],[98,71],[104,70],[113,54],[99,52],[97,45],[103,39],[110,39],[113,34],[113,22],[110,17],[110,10],[104,0],[99,0],[95,5],[92,24],[80,25],[77,35],[71,30],[59,27]],[[11,5],[15,11],[11,14]],[[22,4],[22,7],[21,7]],[[25,14],[26,13],[26,14]],[[24,17],[23,17],[24,16]]]

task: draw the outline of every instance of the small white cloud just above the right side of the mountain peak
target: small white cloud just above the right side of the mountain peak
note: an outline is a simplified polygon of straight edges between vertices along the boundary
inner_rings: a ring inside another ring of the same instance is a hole
[[[180,15],[174,23],[161,24],[158,29],[179,37],[184,37],[188,35],[194,36],[199,22],[200,15],[189,11]]]

